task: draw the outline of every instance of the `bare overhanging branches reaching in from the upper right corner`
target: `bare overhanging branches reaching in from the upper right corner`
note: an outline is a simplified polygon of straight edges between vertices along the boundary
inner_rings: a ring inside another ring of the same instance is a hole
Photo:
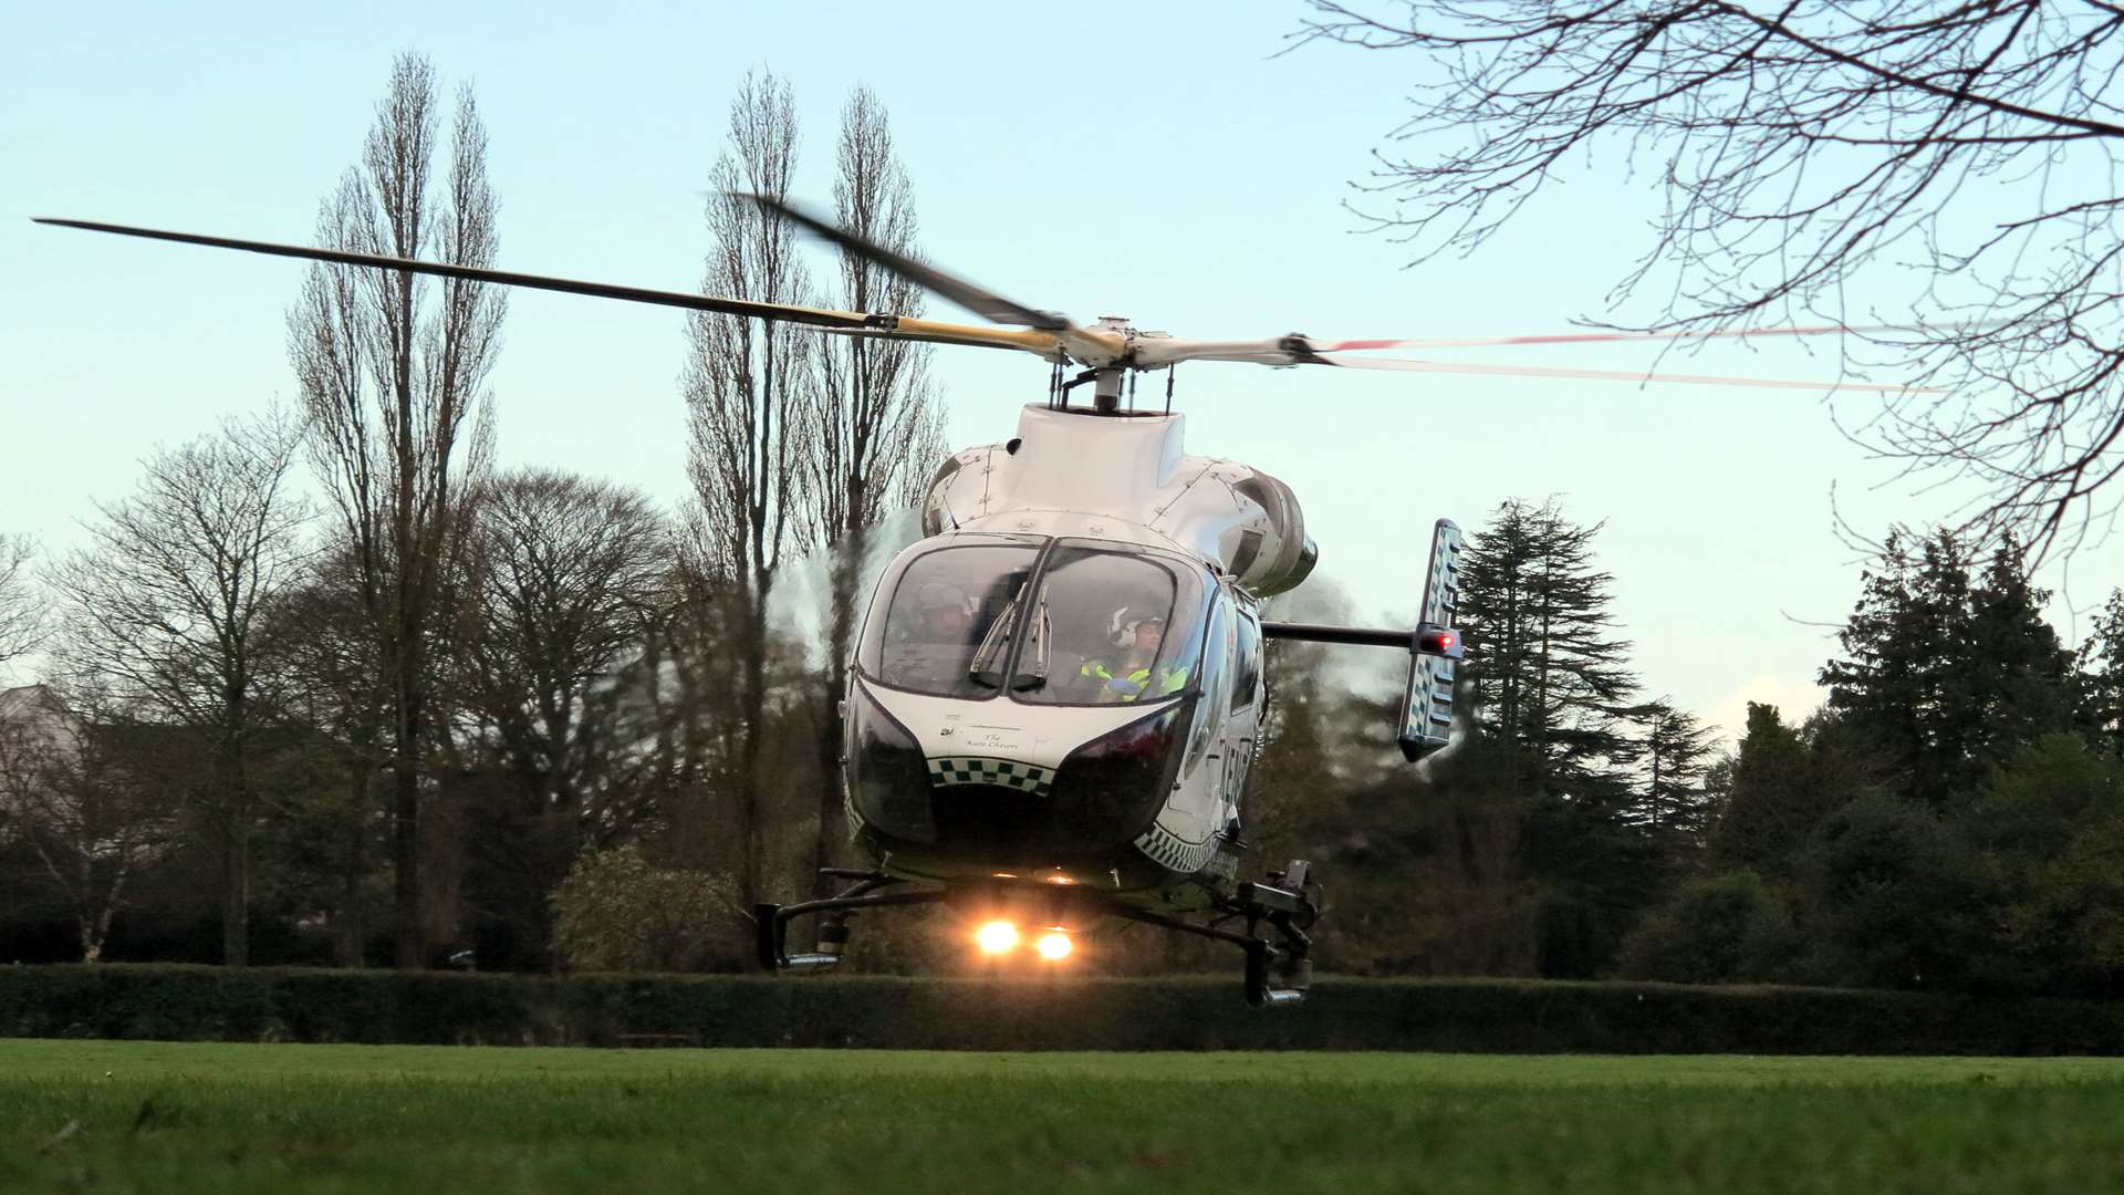
[[[1616,298],[1644,327],[1812,310],[1931,323],[1850,366],[1960,395],[1888,400],[1858,436],[1982,483],[1965,527],[2039,551],[2101,534],[2124,472],[2124,149],[2116,4],[1334,0],[1300,40],[1432,60],[1355,206],[1421,262],[1506,228],[1616,149],[1665,196]],[[1886,287],[1914,283],[1884,302]],[[1892,306],[1890,306],[1892,304]],[[1903,306],[1907,304],[1907,306]]]

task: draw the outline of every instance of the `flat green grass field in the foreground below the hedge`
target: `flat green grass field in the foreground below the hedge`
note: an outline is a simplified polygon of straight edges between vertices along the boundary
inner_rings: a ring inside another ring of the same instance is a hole
[[[2118,1191],[2124,1059],[0,1040],[0,1191]]]

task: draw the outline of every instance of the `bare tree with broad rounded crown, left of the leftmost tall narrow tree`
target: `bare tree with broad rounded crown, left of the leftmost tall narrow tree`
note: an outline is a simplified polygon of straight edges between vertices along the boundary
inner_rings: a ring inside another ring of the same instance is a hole
[[[285,672],[263,610],[304,572],[308,504],[287,493],[302,425],[282,413],[144,461],[138,493],[98,504],[89,544],[51,576],[66,619],[62,653],[134,717],[204,742],[191,804],[219,840],[221,961],[251,955],[251,831],[259,740]]]

